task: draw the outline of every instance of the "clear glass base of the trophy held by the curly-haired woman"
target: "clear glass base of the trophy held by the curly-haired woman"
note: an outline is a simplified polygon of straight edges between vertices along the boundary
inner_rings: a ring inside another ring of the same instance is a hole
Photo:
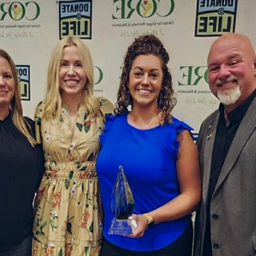
[[[132,234],[136,227],[137,224],[135,220],[118,220],[114,218],[111,221],[111,226],[108,234],[118,234],[119,236],[122,236],[124,234]]]

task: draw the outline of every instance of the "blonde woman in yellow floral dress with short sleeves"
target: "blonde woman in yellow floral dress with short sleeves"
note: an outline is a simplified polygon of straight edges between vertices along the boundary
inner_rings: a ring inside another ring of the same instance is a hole
[[[65,37],[48,67],[47,95],[35,111],[45,175],[35,201],[33,255],[99,254],[100,205],[95,160],[104,116],[113,105],[93,96],[93,65],[86,45]]]

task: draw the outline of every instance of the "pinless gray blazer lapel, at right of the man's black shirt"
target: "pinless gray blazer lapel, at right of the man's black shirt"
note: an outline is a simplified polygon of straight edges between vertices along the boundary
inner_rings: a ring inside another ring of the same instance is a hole
[[[241,151],[243,150],[244,145],[246,144],[247,140],[255,130],[255,127],[256,127],[255,109],[256,109],[256,97],[253,99],[248,110],[246,111],[245,116],[239,125],[238,131],[233,138],[233,141],[229,148],[226,160],[223,164],[212,198],[214,198],[214,195],[218,187],[222,184],[224,179],[229,174],[231,168],[233,167],[234,163],[236,163]]]

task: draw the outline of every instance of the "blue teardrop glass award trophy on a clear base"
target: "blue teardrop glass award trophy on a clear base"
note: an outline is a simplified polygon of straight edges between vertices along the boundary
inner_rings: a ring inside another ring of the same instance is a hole
[[[111,210],[114,219],[111,221],[109,234],[132,234],[136,229],[135,220],[128,219],[134,212],[134,198],[132,190],[126,180],[123,167],[119,166],[115,186],[111,195]]]

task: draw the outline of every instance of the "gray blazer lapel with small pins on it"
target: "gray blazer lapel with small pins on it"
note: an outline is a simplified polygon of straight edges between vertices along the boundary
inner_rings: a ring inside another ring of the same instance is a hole
[[[203,187],[202,187],[202,197],[204,202],[207,200],[208,188],[210,182],[210,169],[211,169],[211,157],[214,150],[214,142],[216,137],[216,130],[219,121],[219,111],[206,126],[205,135],[205,147],[204,147],[204,172],[203,172]],[[207,204],[205,204],[207,205]]]

